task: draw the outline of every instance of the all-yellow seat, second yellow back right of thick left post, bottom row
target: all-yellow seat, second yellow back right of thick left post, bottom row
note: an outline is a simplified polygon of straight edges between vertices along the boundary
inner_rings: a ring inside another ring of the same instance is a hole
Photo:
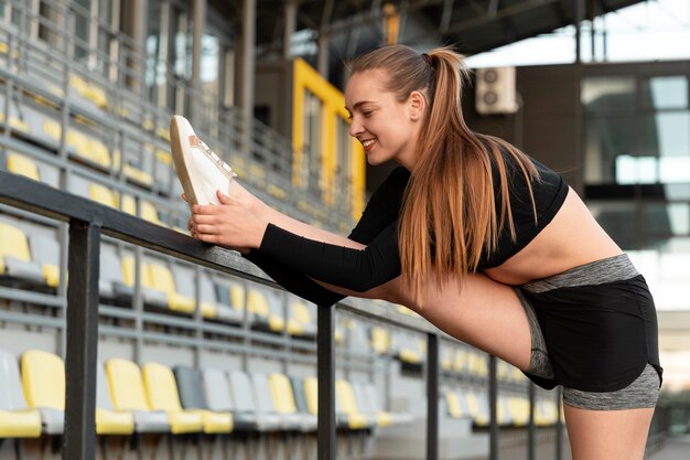
[[[168,414],[170,429],[174,435],[197,432],[203,429],[202,416],[197,411],[182,408],[177,384],[170,367],[159,363],[147,363],[141,367],[141,374],[151,408]]]

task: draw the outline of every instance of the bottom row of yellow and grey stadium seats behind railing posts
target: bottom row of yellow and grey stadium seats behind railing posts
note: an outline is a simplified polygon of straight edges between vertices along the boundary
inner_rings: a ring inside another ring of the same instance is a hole
[[[0,438],[57,435],[64,430],[65,371],[60,356],[22,353],[20,365],[0,350]],[[173,368],[125,359],[97,364],[96,430],[133,432],[262,434],[316,429],[316,377],[239,370]],[[337,426],[374,430],[411,421],[381,409],[371,383],[336,382]]]

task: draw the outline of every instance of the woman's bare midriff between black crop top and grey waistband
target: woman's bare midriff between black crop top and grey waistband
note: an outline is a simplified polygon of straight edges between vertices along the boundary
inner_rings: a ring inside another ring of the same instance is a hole
[[[571,189],[553,220],[535,239],[503,265],[484,272],[496,281],[519,286],[621,253]]]

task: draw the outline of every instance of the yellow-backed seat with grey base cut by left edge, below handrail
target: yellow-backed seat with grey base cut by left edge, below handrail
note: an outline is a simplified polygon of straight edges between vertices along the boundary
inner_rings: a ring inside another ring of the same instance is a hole
[[[0,276],[43,285],[41,264],[32,260],[26,235],[19,227],[0,222]]]

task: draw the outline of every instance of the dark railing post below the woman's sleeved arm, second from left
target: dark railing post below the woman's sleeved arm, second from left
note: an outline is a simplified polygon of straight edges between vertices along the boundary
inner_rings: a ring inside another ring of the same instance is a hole
[[[316,313],[316,366],[319,377],[317,460],[335,460],[335,320],[334,308]]]

